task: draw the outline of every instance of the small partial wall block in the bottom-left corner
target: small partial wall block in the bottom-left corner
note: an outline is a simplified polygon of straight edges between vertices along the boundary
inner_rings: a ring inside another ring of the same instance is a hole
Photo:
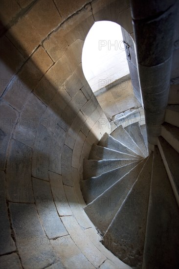
[[[21,261],[17,253],[11,253],[0,257],[1,269],[22,269]]]

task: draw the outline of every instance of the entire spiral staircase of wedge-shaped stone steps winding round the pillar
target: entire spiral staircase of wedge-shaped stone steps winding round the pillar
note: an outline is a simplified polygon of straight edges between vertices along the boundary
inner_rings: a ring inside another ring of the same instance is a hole
[[[141,112],[115,128],[84,159],[85,212],[102,244],[136,269],[179,268],[179,105],[168,106],[154,152]],[[142,125],[141,125],[142,124]]]

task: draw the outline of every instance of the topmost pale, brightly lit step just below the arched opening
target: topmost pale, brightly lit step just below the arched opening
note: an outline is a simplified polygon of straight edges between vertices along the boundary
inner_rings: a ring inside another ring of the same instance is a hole
[[[122,125],[122,127],[126,127],[134,122],[145,122],[144,110],[143,108],[132,109],[124,112],[124,114],[116,115],[113,119],[116,126]]]

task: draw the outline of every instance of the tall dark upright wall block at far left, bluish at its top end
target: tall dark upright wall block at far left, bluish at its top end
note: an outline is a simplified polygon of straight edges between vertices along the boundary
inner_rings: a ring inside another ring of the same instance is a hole
[[[6,167],[7,198],[12,202],[34,202],[31,181],[31,149],[12,139]]]

